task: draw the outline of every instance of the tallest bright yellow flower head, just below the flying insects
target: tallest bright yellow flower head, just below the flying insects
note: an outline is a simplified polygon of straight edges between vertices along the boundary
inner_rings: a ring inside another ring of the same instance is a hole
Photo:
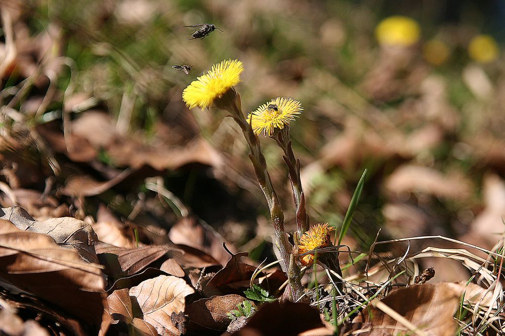
[[[209,108],[216,99],[223,97],[240,82],[242,71],[244,68],[238,59],[223,60],[214,64],[207,74],[197,77],[184,89],[182,100],[189,108],[196,106]]]

